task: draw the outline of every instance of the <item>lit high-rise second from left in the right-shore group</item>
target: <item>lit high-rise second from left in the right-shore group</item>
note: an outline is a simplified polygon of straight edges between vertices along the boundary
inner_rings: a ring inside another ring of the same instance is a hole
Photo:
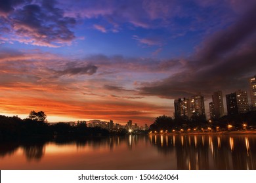
[[[192,116],[205,115],[204,97],[201,94],[192,96],[190,108]]]

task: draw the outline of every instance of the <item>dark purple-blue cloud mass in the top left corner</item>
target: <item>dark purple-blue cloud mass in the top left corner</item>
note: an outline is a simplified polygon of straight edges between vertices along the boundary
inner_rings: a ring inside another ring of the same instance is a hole
[[[75,39],[70,27],[76,24],[76,20],[64,16],[64,11],[55,7],[56,1],[42,1],[39,4],[28,2],[30,1],[3,3],[5,7],[2,11],[9,14],[1,22],[8,22],[13,33],[18,35],[15,41],[56,47]],[[18,8],[14,8],[17,4]]]

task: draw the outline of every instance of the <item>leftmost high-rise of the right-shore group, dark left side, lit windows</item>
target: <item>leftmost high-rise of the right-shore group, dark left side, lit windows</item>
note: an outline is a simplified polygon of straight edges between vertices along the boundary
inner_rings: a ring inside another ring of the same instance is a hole
[[[190,120],[191,112],[190,112],[190,100],[184,98],[176,99],[174,101],[175,107],[175,119],[182,119],[182,120]]]

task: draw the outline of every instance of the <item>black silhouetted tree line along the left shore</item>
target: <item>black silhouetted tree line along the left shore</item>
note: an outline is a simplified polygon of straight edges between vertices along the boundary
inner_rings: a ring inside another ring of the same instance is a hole
[[[110,132],[100,127],[87,127],[86,122],[77,124],[49,124],[43,111],[30,112],[28,118],[0,116],[0,139],[53,139],[107,136]]]

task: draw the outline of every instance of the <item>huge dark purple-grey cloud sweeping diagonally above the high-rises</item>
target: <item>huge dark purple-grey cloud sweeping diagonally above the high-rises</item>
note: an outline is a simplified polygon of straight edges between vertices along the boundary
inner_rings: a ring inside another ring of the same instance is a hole
[[[234,24],[203,41],[194,57],[181,61],[184,69],[158,82],[141,85],[141,95],[175,99],[198,92],[247,90],[256,74],[256,5]]]

